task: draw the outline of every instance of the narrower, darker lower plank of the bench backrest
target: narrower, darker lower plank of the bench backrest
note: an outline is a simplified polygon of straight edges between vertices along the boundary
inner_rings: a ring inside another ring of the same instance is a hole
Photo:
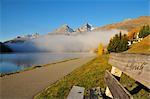
[[[108,71],[105,73],[105,82],[109,87],[114,99],[133,99],[130,93]]]

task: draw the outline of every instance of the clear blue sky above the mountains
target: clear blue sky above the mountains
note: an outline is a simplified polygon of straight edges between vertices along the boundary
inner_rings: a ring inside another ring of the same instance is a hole
[[[0,41],[46,34],[63,24],[103,26],[149,15],[149,0],[1,0],[0,4]]]

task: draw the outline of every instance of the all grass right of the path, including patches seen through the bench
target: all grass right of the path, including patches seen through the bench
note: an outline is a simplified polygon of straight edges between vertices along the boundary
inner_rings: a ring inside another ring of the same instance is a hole
[[[93,87],[101,87],[105,90],[106,84],[104,82],[105,70],[110,70],[111,65],[108,64],[109,55],[96,57],[92,61],[74,70],[69,75],[52,84],[41,93],[36,95],[35,99],[65,99],[73,85],[85,87],[85,95],[88,96],[87,91]],[[123,74],[120,83],[129,91],[134,89],[136,81]],[[135,99],[148,99],[148,91],[142,89],[133,95]]]

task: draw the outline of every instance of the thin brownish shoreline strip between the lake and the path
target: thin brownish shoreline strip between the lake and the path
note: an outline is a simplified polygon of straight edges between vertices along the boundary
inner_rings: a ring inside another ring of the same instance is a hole
[[[59,63],[63,63],[63,62],[71,61],[71,60],[76,60],[76,59],[79,59],[79,58],[68,58],[68,59],[64,59],[64,60],[62,59],[62,60],[50,62],[50,63],[43,64],[43,65],[35,65],[35,66],[33,65],[31,67],[28,67],[28,68],[25,68],[23,70],[19,70],[19,71],[16,71],[16,72],[12,72],[12,73],[0,73],[0,78],[2,78],[4,76],[9,76],[9,75],[17,74],[17,73],[22,73],[22,72],[33,70],[33,69],[36,69],[36,68],[41,68],[41,67],[45,67],[45,66],[49,66],[49,65],[53,65],[53,64],[59,64]]]

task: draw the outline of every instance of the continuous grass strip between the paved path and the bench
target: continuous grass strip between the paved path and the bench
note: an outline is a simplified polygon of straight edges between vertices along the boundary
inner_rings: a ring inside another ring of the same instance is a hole
[[[36,99],[66,98],[73,85],[85,87],[86,90],[96,86],[105,88],[104,73],[111,68],[107,60],[108,55],[93,59],[45,89]]]

